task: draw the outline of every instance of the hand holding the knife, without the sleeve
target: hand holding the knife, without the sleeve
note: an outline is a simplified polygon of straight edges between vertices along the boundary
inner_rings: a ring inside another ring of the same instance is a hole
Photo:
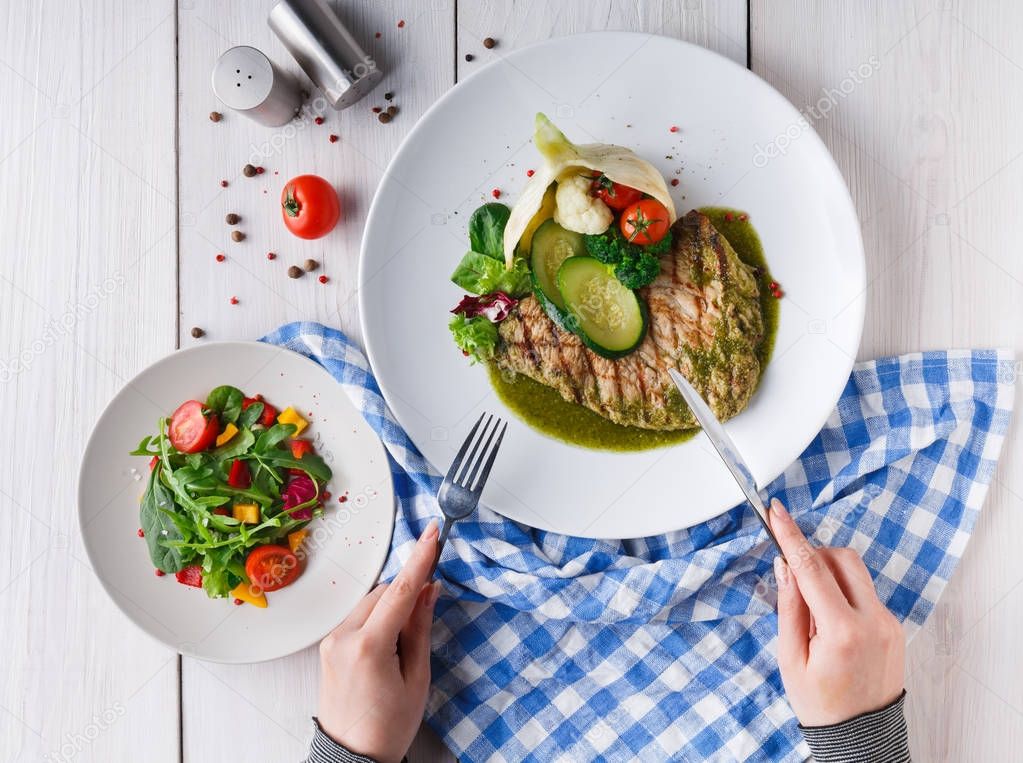
[[[850,548],[814,548],[781,501],[770,526],[788,564],[777,578],[777,663],[804,726],[828,726],[880,710],[902,693],[905,636],[878,599]]]

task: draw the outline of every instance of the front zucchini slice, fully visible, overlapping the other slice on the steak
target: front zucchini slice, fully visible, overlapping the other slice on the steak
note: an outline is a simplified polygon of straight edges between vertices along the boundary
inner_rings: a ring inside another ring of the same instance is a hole
[[[647,306],[611,269],[592,257],[573,257],[558,271],[569,324],[605,358],[632,352],[647,333]]]

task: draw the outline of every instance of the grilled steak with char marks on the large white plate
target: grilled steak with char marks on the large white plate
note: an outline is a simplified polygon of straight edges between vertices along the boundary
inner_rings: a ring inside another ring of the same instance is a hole
[[[760,378],[764,326],[757,279],[705,215],[690,212],[671,232],[661,273],[639,289],[650,325],[635,352],[618,360],[601,357],[528,297],[500,323],[498,366],[620,424],[698,425],[668,368],[681,371],[718,418],[740,413]]]

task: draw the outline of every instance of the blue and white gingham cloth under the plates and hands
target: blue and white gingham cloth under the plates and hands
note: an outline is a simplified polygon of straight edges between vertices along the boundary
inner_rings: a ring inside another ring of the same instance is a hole
[[[440,514],[441,477],[339,331],[265,338],[321,363],[391,454],[400,508],[385,577]],[[995,351],[858,363],[838,407],[766,493],[821,544],[851,546],[911,634],[966,547],[1013,403]],[[440,573],[427,720],[462,761],[797,761],[782,690],[772,547],[742,507],[626,541],[555,535],[481,508]]]

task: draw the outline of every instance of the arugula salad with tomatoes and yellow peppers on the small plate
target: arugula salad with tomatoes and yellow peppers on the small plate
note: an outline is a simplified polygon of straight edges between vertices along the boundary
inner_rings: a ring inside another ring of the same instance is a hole
[[[187,400],[131,455],[149,460],[139,536],[157,575],[211,598],[267,605],[302,573],[311,520],[330,467],[299,438],[308,421],[230,386]]]

